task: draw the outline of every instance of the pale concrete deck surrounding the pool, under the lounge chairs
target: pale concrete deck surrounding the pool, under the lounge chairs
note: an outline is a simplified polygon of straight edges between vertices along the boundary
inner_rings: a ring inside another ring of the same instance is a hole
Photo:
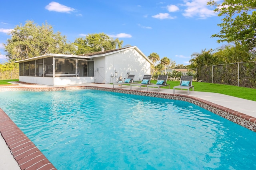
[[[32,85],[26,85],[26,84],[19,84],[16,86],[7,86],[0,88],[10,88],[10,87],[29,87],[29,88],[47,88],[47,87],[53,87],[53,86],[45,86],[45,85],[39,85],[39,84],[32,84]],[[74,85],[72,85],[74,86]],[[96,86],[96,87],[103,87],[103,88],[112,88],[112,84],[94,84],[94,83],[88,83],[88,84],[79,84],[77,86]],[[58,87],[58,86],[54,86]],[[62,86],[61,86],[62,87]],[[118,86],[117,86],[118,87]],[[118,87],[119,88],[119,87]],[[120,88],[119,88],[120,89]],[[130,90],[130,86],[122,86],[122,89]],[[132,86],[132,90],[139,90],[139,87]],[[141,88],[141,91],[146,91],[145,87]],[[150,92],[157,92],[157,88],[149,88]],[[175,90],[176,94],[181,95],[187,95],[187,90]],[[160,93],[164,94],[172,94],[172,89],[160,89]],[[244,113],[246,115],[249,115],[251,117],[256,118],[256,102],[251,100],[245,100],[241,98],[236,98],[232,96],[227,96],[223,94],[217,94],[217,93],[209,93],[209,92],[196,92],[196,91],[190,91],[190,95],[195,98],[200,98],[202,100],[206,100],[208,102],[212,102],[214,104],[227,107],[231,110],[238,111],[240,113]],[[19,170],[21,169],[16,160],[14,159],[13,155],[10,152],[9,147],[6,145],[2,135],[0,135],[0,169],[1,170]],[[44,169],[44,168],[41,168]]]

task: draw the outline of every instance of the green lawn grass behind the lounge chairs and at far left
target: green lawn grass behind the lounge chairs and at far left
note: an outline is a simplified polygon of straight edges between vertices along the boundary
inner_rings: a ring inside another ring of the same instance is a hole
[[[8,82],[17,82],[19,79],[12,80],[0,80],[0,84],[10,84]],[[151,80],[152,83],[156,84],[156,80]],[[167,84],[170,84],[170,88],[173,86],[178,86],[180,84],[179,81],[167,81]],[[256,89],[254,88],[246,88],[246,87],[238,87],[238,86],[230,86],[224,84],[213,84],[213,83],[204,83],[204,82],[193,82],[194,90],[198,92],[212,92],[219,94],[226,94],[228,96],[234,96],[237,98],[247,99],[256,101]],[[162,87],[167,88],[167,87]]]

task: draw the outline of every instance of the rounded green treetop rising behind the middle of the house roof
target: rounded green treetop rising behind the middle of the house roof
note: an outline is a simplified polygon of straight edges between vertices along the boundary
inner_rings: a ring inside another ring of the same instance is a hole
[[[85,38],[77,38],[74,43],[77,47],[76,54],[92,53],[104,50],[111,50],[116,48],[122,48],[123,41],[119,39],[113,39],[105,33],[94,33],[86,35]]]

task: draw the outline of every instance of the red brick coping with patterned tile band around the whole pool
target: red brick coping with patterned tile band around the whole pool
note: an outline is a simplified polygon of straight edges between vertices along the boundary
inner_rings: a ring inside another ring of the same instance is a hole
[[[182,94],[166,94],[158,92],[145,92],[138,90],[127,90],[118,88],[106,88],[96,86],[68,86],[68,87],[6,87],[0,88],[0,92],[4,91],[33,91],[33,92],[47,92],[47,91],[60,91],[60,90],[79,90],[79,89],[92,89],[102,90],[108,92],[118,92],[124,94],[135,94],[139,96],[150,96],[156,98],[165,98],[172,100],[180,100],[190,102],[200,106],[216,115],[224,117],[242,127],[256,132],[256,118],[234,111],[227,107],[223,107],[200,98],[187,96]],[[0,133],[6,144],[11,150],[14,159],[22,170],[54,170],[56,169],[52,163],[42,154],[42,152],[28,139],[28,137],[17,127],[17,125],[8,117],[8,115],[0,109]]]

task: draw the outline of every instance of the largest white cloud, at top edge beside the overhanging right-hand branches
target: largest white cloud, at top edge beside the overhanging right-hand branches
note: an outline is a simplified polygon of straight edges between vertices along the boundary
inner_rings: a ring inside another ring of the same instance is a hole
[[[183,6],[186,6],[186,9],[182,15],[185,17],[198,16],[201,19],[216,16],[217,14],[207,6],[208,1],[209,0],[192,0],[188,2],[184,0],[185,4]]]

